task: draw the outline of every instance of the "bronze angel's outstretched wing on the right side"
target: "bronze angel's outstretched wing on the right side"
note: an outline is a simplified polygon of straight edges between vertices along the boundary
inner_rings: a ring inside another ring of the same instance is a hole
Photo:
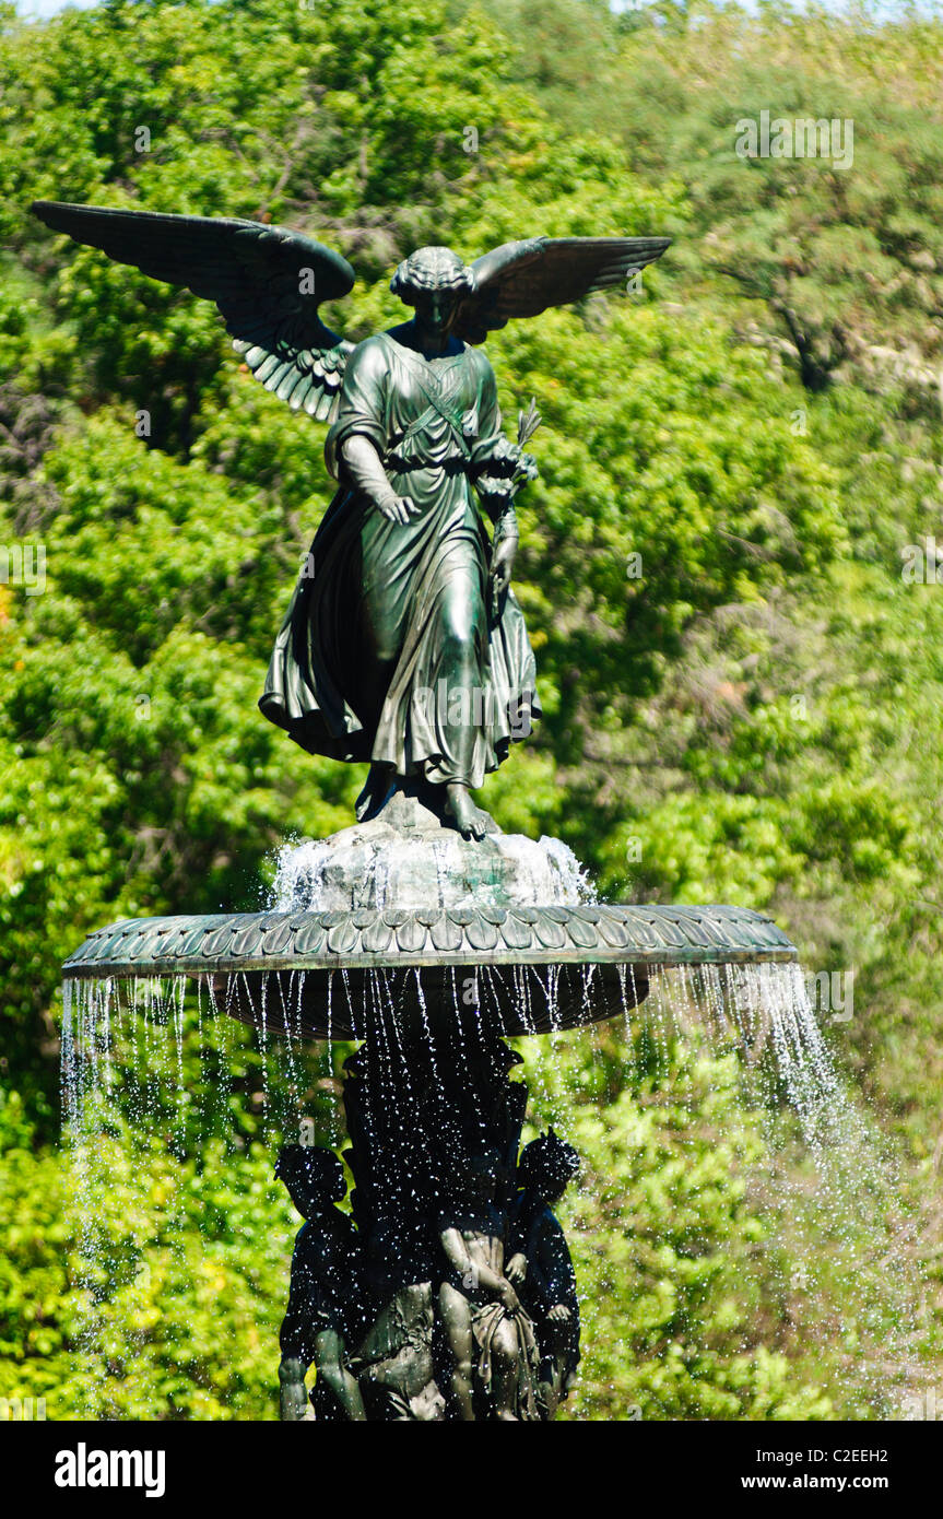
[[[530,237],[475,258],[474,290],[462,302],[456,333],[481,343],[513,316],[538,316],[592,290],[624,284],[665,252],[670,237]]]

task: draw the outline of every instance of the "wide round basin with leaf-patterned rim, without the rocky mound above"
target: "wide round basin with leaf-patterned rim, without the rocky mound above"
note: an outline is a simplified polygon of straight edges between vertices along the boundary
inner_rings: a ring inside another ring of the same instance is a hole
[[[307,1037],[366,1039],[390,1012],[421,1036],[465,1003],[510,1036],[610,1018],[644,1001],[658,969],[764,960],[797,951],[746,907],[580,902],[125,919],[90,934],[64,975],[207,978],[232,1016]]]

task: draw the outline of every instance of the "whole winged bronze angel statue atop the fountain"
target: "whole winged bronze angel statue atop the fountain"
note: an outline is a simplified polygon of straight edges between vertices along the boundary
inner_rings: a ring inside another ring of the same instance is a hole
[[[518,439],[504,436],[494,369],[475,345],[510,317],[624,284],[668,238],[531,237],[472,264],[421,248],[390,284],[412,317],[354,345],[319,316],[352,289],[354,270],[302,232],[50,201],[33,211],[216,301],[257,380],[331,424],[337,492],[278,633],[261,711],[310,753],[369,764],[358,819],[412,787],[481,838],[494,823],[471,793],[539,715],[510,589],[515,495],[536,475],[524,444],[539,419],[531,404]]]

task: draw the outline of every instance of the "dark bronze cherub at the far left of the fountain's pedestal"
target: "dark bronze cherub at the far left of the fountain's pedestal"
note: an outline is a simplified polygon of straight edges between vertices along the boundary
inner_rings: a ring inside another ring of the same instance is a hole
[[[334,1205],[346,1192],[343,1167],[333,1150],[284,1145],[275,1174],[307,1220],[292,1255],[289,1306],[281,1326],[281,1417],[307,1416],[305,1373],[317,1372],[316,1394],[328,1388],[346,1419],[366,1419],[357,1378],[346,1360],[351,1335],[363,1328],[357,1232]]]

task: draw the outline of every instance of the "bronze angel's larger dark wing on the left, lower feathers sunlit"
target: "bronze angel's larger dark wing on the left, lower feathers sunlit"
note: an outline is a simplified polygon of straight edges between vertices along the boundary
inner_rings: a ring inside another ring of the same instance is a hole
[[[333,419],[354,345],[325,327],[317,308],[352,289],[354,270],[340,254],[261,222],[61,201],[35,201],[32,210],[77,243],[216,301],[255,378],[293,410]]]

